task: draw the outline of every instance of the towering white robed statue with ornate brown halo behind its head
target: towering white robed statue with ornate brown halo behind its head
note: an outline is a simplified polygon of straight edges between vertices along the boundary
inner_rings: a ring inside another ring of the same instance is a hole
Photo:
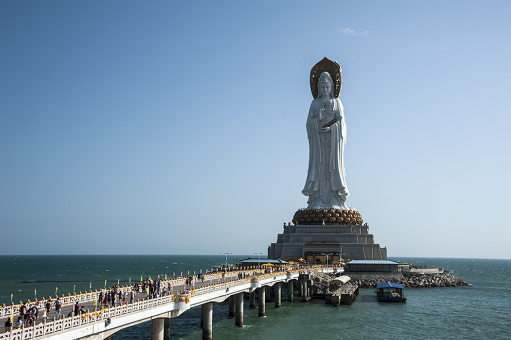
[[[321,62],[324,63],[325,60],[333,63],[327,58]],[[313,95],[316,95],[307,118],[309,171],[305,187],[301,191],[309,197],[308,209],[346,209],[345,202],[349,195],[343,157],[346,121],[342,103],[337,98],[340,92],[341,70],[337,63],[335,65],[338,67],[338,74],[331,70],[321,71],[317,83],[311,71],[311,89]],[[319,69],[321,70],[321,67]],[[331,74],[338,79],[332,80]],[[313,88],[315,84],[316,89]]]

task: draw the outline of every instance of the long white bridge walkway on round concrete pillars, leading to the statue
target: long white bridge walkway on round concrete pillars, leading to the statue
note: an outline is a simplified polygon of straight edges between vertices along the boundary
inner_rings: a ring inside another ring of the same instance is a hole
[[[196,306],[201,306],[203,339],[211,339],[213,303],[229,299],[229,315],[235,316],[236,326],[242,327],[245,293],[249,293],[250,306],[255,307],[255,292],[257,290],[259,316],[263,317],[265,303],[269,301],[266,296],[271,294],[271,290],[275,295],[275,307],[280,306],[282,283],[288,284],[288,301],[293,301],[295,282],[298,282],[298,295],[306,300],[310,297],[314,276],[340,271],[340,268],[315,265],[299,269],[281,269],[270,273],[259,269],[215,272],[207,274],[204,283],[195,281],[194,284],[188,286],[185,286],[186,278],[163,280],[164,283],[172,284],[172,290],[167,295],[150,299],[147,294],[139,293],[132,303],[121,303],[109,308],[94,305],[94,301],[97,301],[101,292],[62,296],[59,298],[63,302],[62,319],[55,320],[55,318],[39,316],[39,320],[36,320],[30,327],[11,328],[10,331],[0,333],[0,339],[109,340],[111,334],[121,329],[151,321],[151,339],[168,340],[170,339],[171,318],[178,317]],[[240,278],[242,277],[240,273],[243,273],[245,277]],[[121,289],[123,292],[129,293],[133,286]],[[66,317],[75,302],[84,306],[87,312]],[[44,303],[44,300],[40,303],[39,315],[42,315]],[[0,307],[0,321],[5,323],[11,317],[11,313],[15,315],[14,320],[16,320],[19,307],[20,305]],[[53,309],[50,317],[55,315]]]

